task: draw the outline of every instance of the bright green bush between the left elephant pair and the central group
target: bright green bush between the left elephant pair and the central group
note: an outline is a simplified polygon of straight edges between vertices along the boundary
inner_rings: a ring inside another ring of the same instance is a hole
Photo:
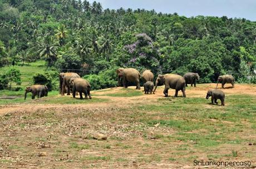
[[[116,69],[107,69],[101,71],[98,75],[85,75],[82,78],[89,81],[92,90],[99,90],[105,88],[113,88],[117,86]]]

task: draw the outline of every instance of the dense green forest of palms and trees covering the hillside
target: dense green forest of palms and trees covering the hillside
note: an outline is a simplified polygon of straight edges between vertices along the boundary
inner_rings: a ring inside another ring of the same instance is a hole
[[[244,18],[103,10],[100,3],[80,0],[3,0],[0,11],[0,66],[44,59],[62,71],[90,74],[116,66],[155,74],[193,71],[201,83],[225,73],[248,81],[256,69],[256,22]],[[87,77],[95,83],[106,78]],[[98,86],[112,86],[115,80],[111,76]]]

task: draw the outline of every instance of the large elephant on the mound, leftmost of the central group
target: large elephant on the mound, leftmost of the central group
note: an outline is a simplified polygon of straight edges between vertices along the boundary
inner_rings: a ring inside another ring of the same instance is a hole
[[[134,68],[119,68],[116,70],[119,78],[122,78],[122,83],[127,88],[127,83],[135,83],[136,89],[140,90],[140,73]],[[119,81],[120,83],[120,81]]]

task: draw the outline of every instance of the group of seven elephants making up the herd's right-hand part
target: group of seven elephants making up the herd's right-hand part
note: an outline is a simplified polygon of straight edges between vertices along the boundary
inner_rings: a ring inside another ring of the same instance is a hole
[[[119,86],[122,84],[125,88],[127,88],[127,83],[134,83],[136,84],[136,89],[140,89],[140,78],[142,79],[144,83],[144,92],[145,94],[155,94],[155,90],[158,85],[165,85],[164,88],[164,95],[165,97],[168,97],[168,90],[175,89],[175,95],[174,97],[178,96],[178,91],[182,91],[183,97],[186,97],[185,93],[185,86],[188,86],[188,84],[191,84],[191,86],[196,86],[196,80],[200,79],[200,76],[198,73],[186,73],[184,76],[180,76],[178,74],[159,74],[155,80],[155,88],[154,88],[154,74],[150,70],[145,70],[142,73],[142,76],[140,77],[139,71],[137,71],[134,68],[119,68],[116,70],[116,73],[118,75],[118,84]],[[121,80],[122,79],[122,80]],[[234,88],[234,78],[232,75],[222,75],[218,77],[218,83],[216,85],[216,88],[213,90],[209,90],[206,99],[208,99],[211,96],[211,104],[214,103],[218,104],[217,99],[221,100],[221,105],[224,106],[224,99],[225,94],[223,91],[217,89],[218,84],[221,82],[221,88],[224,88],[224,85],[226,83],[232,84],[232,88]],[[153,90],[154,89],[154,90]]]

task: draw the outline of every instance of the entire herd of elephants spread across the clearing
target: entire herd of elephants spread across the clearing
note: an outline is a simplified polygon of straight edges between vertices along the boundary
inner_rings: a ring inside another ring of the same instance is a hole
[[[140,75],[140,72],[134,68],[119,68],[116,70],[117,76],[118,76],[118,85],[124,86],[124,88],[127,88],[128,83],[134,83],[136,84],[136,89],[140,90],[140,79],[144,83],[144,92],[145,94],[155,94],[155,90],[158,85],[165,85],[164,88],[164,95],[165,97],[168,97],[168,90],[175,89],[175,95],[174,97],[178,96],[178,91],[182,91],[183,97],[186,97],[185,93],[185,86],[188,86],[188,84],[191,84],[191,86],[196,86],[196,81],[200,79],[200,76],[198,73],[186,73],[184,76],[180,76],[178,74],[159,74],[155,80],[155,86],[154,86],[154,74],[150,70],[145,70],[142,73],[142,76]],[[59,74],[60,79],[60,94],[70,95],[70,92],[72,91],[73,98],[76,97],[76,93],[80,94],[80,99],[82,99],[82,94],[85,94],[85,99],[91,99],[91,85],[90,83],[82,79],[80,75],[76,73],[60,73]],[[224,85],[226,83],[232,84],[232,88],[234,88],[234,78],[232,75],[222,75],[218,77],[218,83],[216,85],[216,88],[213,90],[209,90],[206,99],[208,99],[211,96],[211,104],[217,103],[217,99],[221,100],[221,105],[224,105],[224,99],[225,94],[223,91],[217,89],[218,84],[221,83],[221,87],[224,88]],[[24,99],[26,100],[27,93],[32,93],[32,99],[35,99],[35,96],[37,95],[37,98],[41,98],[43,96],[48,95],[48,88],[44,85],[32,85],[27,86],[25,89]]]

